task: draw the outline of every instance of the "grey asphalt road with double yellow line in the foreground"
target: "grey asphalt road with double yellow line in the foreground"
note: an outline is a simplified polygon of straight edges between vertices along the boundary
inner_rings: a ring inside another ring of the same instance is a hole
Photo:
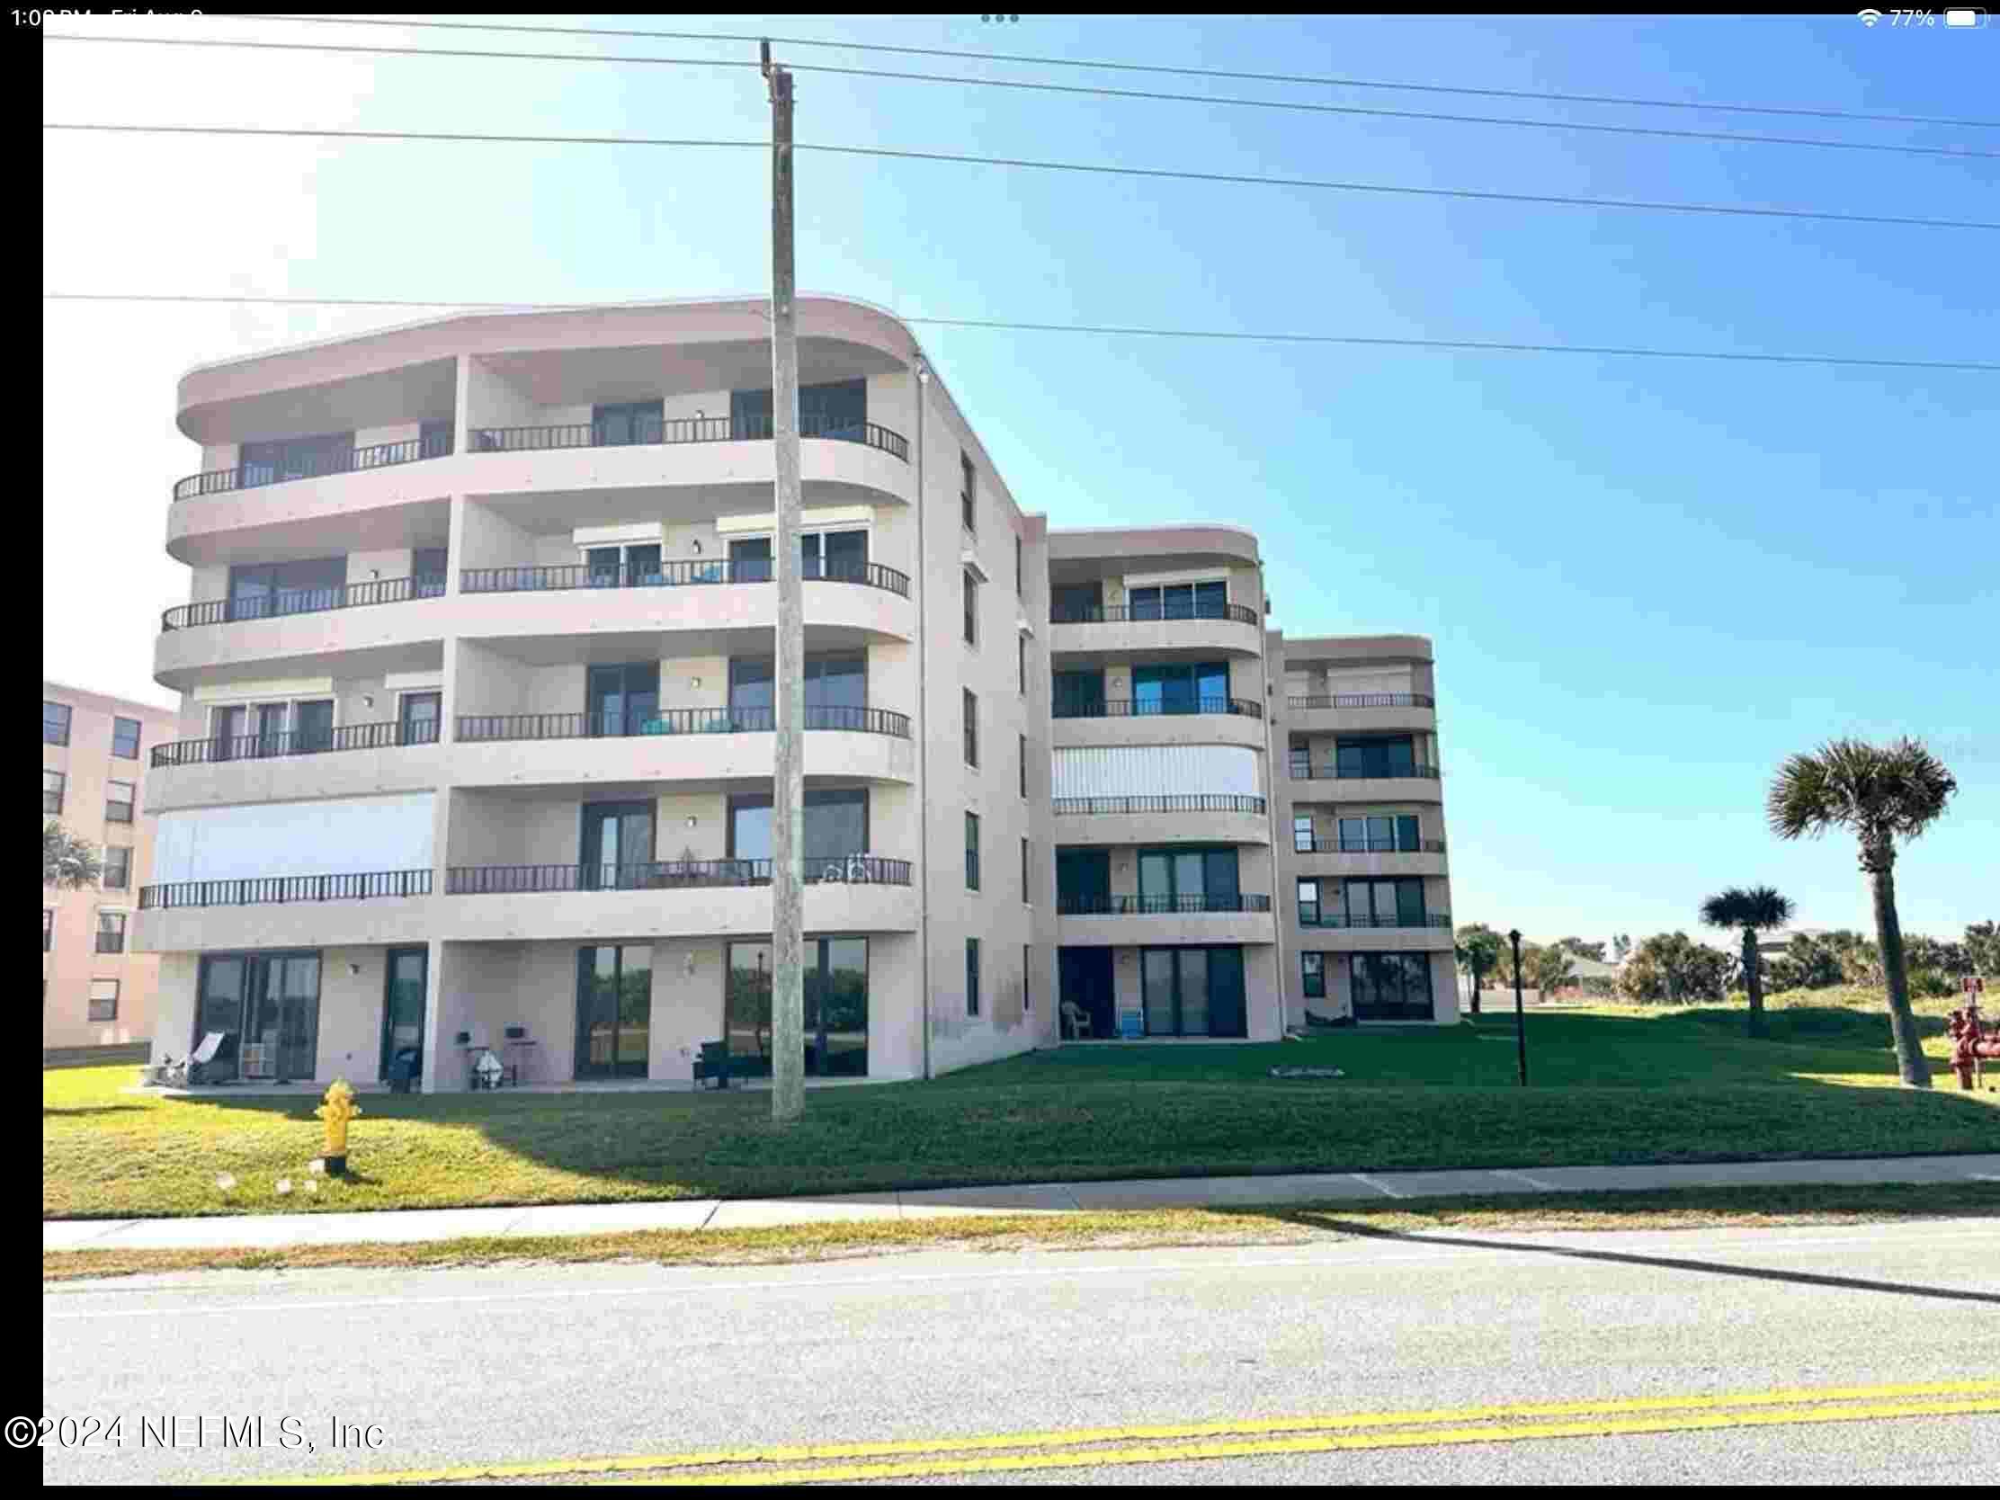
[[[2000,1220],[64,1284],[42,1390],[56,1484],[1976,1482]]]

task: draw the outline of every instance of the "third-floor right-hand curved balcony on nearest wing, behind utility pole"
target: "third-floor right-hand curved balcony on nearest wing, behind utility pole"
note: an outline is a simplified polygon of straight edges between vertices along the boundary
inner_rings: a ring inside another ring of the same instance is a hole
[[[460,786],[756,780],[774,770],[776,728],[772,708],[666,708],[644,718],[462,714],[452,780]],[[808,704],[804,728],[808,776],[916,780],[908,714]]]

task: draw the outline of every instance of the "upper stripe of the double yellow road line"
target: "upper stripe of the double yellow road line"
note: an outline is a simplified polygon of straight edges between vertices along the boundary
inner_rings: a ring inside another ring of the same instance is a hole
[[[1500,1422],[1548,1416],[1620,1416],[1632,1412],[1706,1412],[1758,1406],[1802,1406],[1814,1402],[1890,1400],[1910,1396],[2000,1396],[2000,1380],[1932,1380],[1892,1386],[1820,1386],[1724,1396],[1626,1396],[1584,1402],[1538,1402],[1526,1406],[1458,1406],[1422,1412],[1354,1412],[1340,1416],[1278,1416],[1236,1422],[1176,1422],[1122,1428],[1064,1428],[1042,1432],[998,1432],[968,1438],[906,1438],[898,1442],[774,1444],[766,1448],[724,1448],[678,1454],[628,1454],[624,1458],[556,1458],[530,1464],[466,1464],[456,1468],[400,1470],[388,1474],[326,1474],[298,1480],[254,1480],[258,1484],[436,1484],[450,1480],[556,1478],[568,1474],[632,1474],[662,1468],[702,1468],[716,1464],[784,1464],[822,1458],[904,1458],[916,1454],[964,1454],[1004,1448],[1080,1448],[1110,1442],[1162,1442],[1174,1438],[1240,1438],[1278,1432],[1338,1432],[1358,1428],[1400,1428],[1446,1422]],[[1932,1408],[1920,1408],[1924,1412]],[[1496,1428],[1480,1428],[1496,1432]]]

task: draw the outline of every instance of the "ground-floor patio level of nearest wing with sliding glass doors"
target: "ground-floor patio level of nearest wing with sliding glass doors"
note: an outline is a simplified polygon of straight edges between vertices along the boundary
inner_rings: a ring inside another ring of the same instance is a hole
[[[912,934],[808,934],[804,990],[808,1082],[922,1076]],[[756,1088],[772,1072],[772,952],[652,938],[162,954],[152,1062],[210,1036],[200,1084],[234,1096],[404,1076],[426,1094],[692,1090],[714,1084],[716,1042],[728,1084]]]

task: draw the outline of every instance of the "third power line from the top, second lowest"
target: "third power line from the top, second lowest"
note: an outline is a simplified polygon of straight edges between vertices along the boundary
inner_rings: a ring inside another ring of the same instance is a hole
[[[332,140],[430,140],[430,142],[478,142],[510,146],[712,146],[724,150],[770,150],[762,140],[684,140],[668,136],[502,136],[482,132],[446,130],[286,130],[266,126],[138,126],[138,124],[78,124],[46,122],[44,130],[92,130],[112,134],[162,134],[162,136],[278,136],[278,138],[332,138]],[[1224,182],[1260,188],[1306,188],[1320,192],[1380,192],[1416,198],[1468,198],[1482,202],[1512,204],[1554,204],[1564,208],[1628,208],[1672,214],[1728,214],[1740,218],[1806,218],[1834,224],[1900,224],[1910,228],[1936,230],[2000,230],[2000,222],[1960,220],[1960,218],[1912,218],[1900,214],[1836,214],[1814,208],[1744,208],[1730,204],[1676,204],[1636,198],[1570,198],[1542,192],[1488,192],[1476,188],[1410,188],[1380,182],[1336,182],[1328,178],[1272,178],[1242,172],[1186,172],[1152,166],[1100,166],[1092,162],[1046,162],[1020,156],[968,156],[958,152],[916,152],[888,146],[820,146],[796,142],[794,150],[826,152],[832,156],[884,156],[910,162],[952,162],[962,166],[1018,166],[1036,172],[1090,172],[1128,178],[1166,178],[1176,182]]]

